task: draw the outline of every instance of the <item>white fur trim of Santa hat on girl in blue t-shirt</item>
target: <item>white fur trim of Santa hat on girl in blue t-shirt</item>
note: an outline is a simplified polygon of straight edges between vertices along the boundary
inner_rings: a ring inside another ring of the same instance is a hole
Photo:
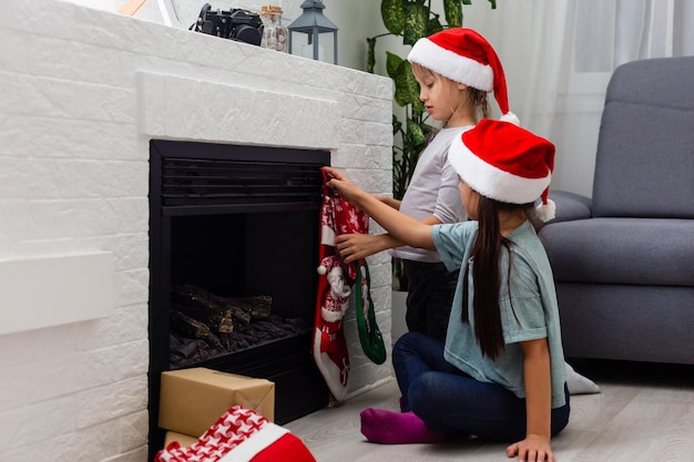
[[[484,197],[508,204],[530,204],[550,185],[552,173],[542,178],[524,178],[488,164],[472,153],[462,142],[453,140],[448,161],[472,189]]]

